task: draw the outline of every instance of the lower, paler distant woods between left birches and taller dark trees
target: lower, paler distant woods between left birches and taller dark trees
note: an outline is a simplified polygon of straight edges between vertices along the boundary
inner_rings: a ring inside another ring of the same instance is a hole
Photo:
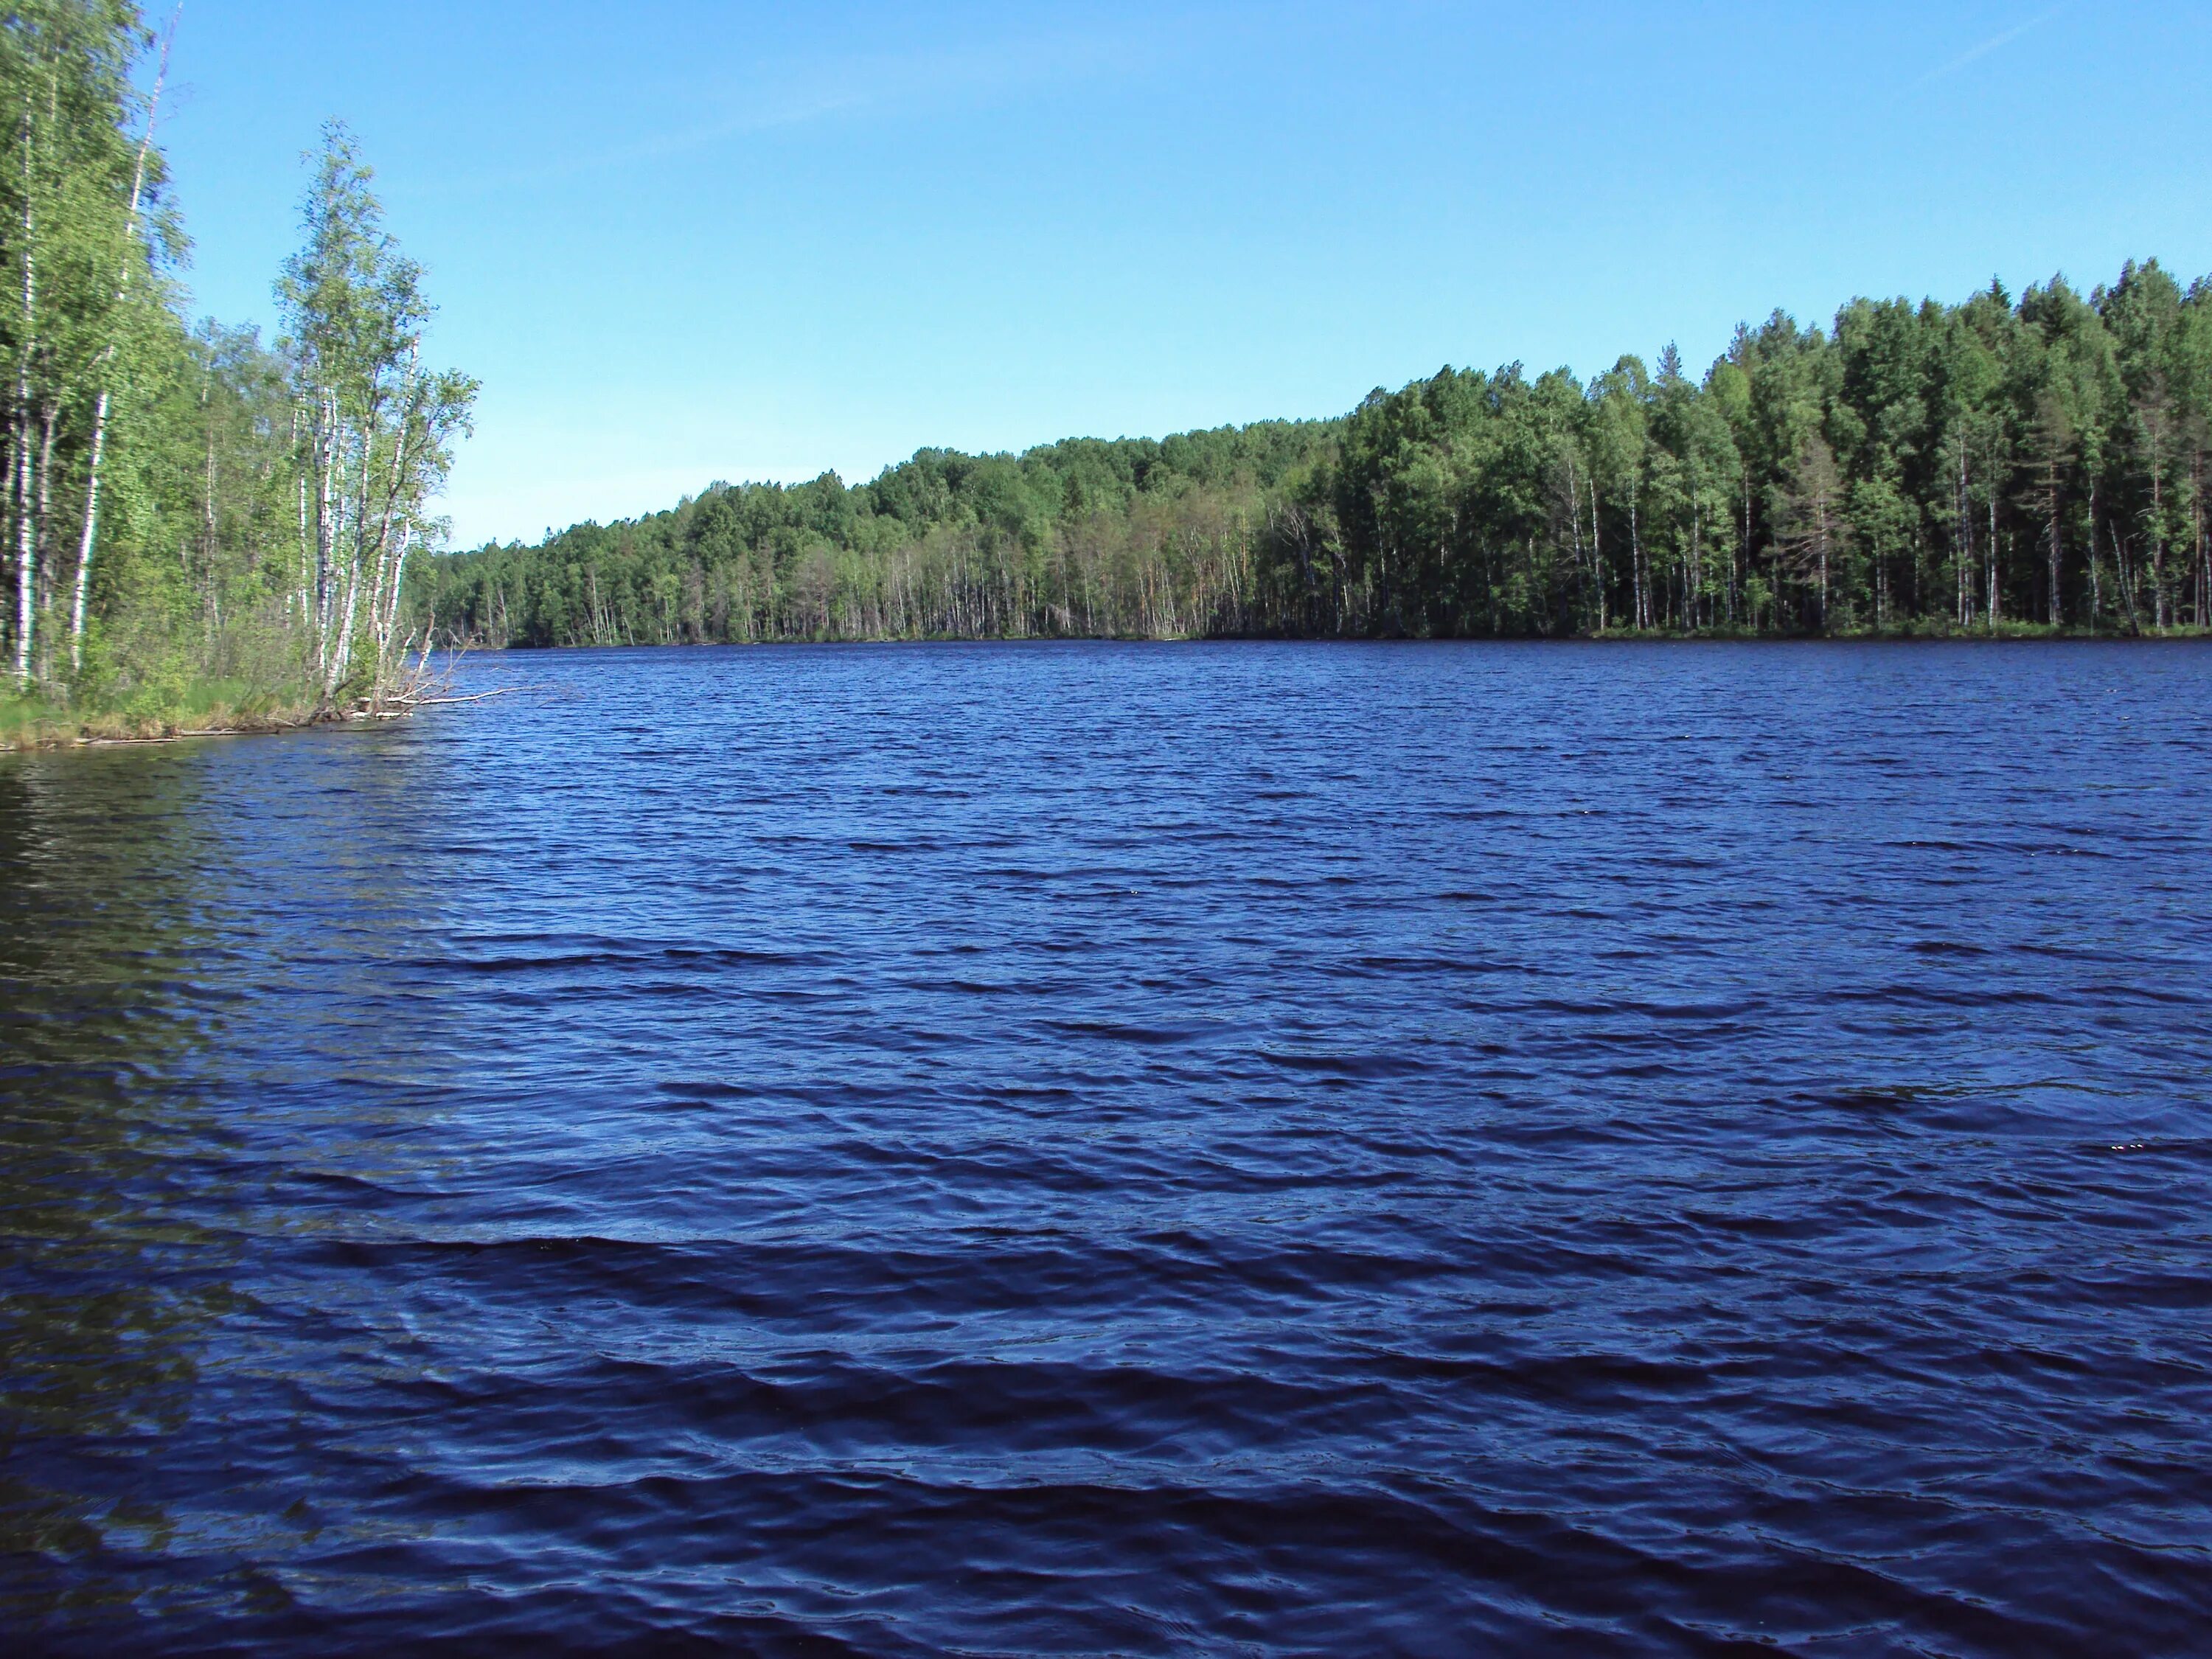
[[[1267,502],[1334,434],[925,449],[852,489],[712,484],[644,520],[431,557],[414,604],[502,646],[1245,633]]]

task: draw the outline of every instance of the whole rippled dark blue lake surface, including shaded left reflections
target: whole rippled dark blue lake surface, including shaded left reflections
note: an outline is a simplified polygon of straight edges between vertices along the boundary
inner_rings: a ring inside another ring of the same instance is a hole
[[[2212,1652],[2212,650],[0,759],[18,1650]]]

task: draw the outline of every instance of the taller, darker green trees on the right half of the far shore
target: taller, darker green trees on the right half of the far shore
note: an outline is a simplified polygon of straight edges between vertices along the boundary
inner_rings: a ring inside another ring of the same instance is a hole
[[[1517,365],[1371,396],[1303,484],[1290,630],[2002,633],[2203,626],[2212,296],[1776,314],[1701,383]],[[1573,392],[1571,392],[1573,389]],[[1568,396],[1562,396],[1568,394]],[[1531,458],[1548,456],[1548,491]],[[1546,500],[1548,513],[1537,511]],[[1316,573],[1327,573],[1325,580]],[[1267,580],[1263,568],[1261,580]]]

